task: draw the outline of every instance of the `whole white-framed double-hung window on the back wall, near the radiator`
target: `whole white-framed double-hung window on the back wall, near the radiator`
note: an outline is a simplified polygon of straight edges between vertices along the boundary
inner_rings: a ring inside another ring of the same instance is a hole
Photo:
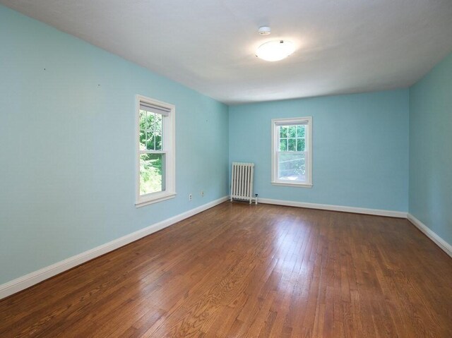
[[[312,118],[273,119],[271,183],[312,186]]]

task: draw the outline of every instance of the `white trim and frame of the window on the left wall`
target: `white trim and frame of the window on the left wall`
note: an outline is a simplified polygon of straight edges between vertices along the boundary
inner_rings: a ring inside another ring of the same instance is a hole
[[[163,123],[163,150],[165,150],[165,191],[140,195],[140,102],[155,104],[170,109]],[[176,196],[176,107],[174,104],[157,101],[149,97],[136,95],[135,107],[135,142],[136,142],[136,207],[144,207],[153,203],[169,200]]]

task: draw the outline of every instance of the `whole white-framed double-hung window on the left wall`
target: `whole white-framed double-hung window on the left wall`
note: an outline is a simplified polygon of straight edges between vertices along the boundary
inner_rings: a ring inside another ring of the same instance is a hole
[[[136,206],[167,200],[176,195],[174,119],[175,107],[137,96],[137,198]]]

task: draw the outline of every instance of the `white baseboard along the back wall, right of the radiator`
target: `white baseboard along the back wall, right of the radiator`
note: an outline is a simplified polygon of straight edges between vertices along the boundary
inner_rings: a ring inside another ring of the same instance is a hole
[[[258,198],[258,203],[286,205],[288,207],[307,207],[309,209],[354,212],[356,214],[407,218],[407,212],[392,211],[392,210],[379,210],[379,209],[366,209],[363,207],[343,207],[341,205],[303,203],[303,202],[294,202],[291,200],[272,200],[270,198]]]

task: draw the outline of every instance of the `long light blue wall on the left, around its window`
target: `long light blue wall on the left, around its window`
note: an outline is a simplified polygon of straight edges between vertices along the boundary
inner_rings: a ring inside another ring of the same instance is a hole
[[[138,209],[136,94],[177,109],[177,198]],[[227,195],[225,104],[4,6],[0,109],[0,284]]]

